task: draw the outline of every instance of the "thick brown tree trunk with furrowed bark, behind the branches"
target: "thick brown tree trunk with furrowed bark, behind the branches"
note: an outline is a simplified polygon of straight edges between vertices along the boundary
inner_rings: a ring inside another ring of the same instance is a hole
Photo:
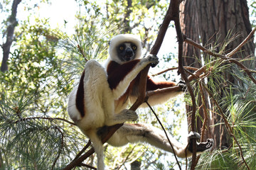
[[[246,0],[186,0],[183,2],[182,9],[183,18],[181,18],[181,23],[183,26],[183,33],[187,35],[188,38],[191,38],[196,42],[201,42],[203,46],[208,48],[211,47],[209,45],[213,46],[224,42],[226,36],[231,31],[231,35],[239,34],[240,36],[235,38],[235,40],[225,47],[225,53],[228,53],[237,47],[252,30]],[[220,47],[216,47],[215,49],[216,52],[218,52]],[[254,52],[255,45],[251,40],[242,47],[241,52],[238,52],[238,54],[233,57],[245,58],[253,55]],[[200,67],[200,64],[198,64],[195,57],[193,57],[198,56],[200,59],[200,52],[198,52],[198,50],[190,45],[185,45],[183,54],[188,56],[184,58],[185,64],[192,65],[193,67]],[[250,62],[245,62],[244,64],[249,67]],[[252,67],[255,68],[255,66]],[[230,67],[230,69],[232,69],[232,67]],[[230,72],[223,72],[222,74],[227,80],[223,86],[238,84]],[[224,97],[223,91],[220,91],[220,98],[221,97]],[[208,100],[206,100],[206,102],[207,101]],[[211,103],[208,104],[213,106]],[[211,109],[213,109],[213,107],[211,107]],[[210,116],[210,125],[223,123],[220,115],[215,112],[212,112]],[[224,125],[213,126],[211,134],[213,135],[208,135],[208,137],[213,137],[215,148],[228,147],[229,137]]]

